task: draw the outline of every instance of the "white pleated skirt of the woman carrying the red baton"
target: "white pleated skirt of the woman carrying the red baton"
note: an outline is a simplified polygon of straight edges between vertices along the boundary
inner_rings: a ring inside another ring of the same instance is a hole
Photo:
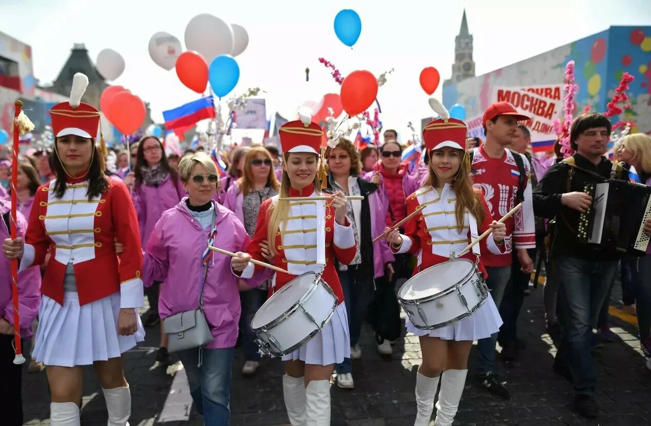
[[[45,365],[74,367],[117,358],[145,340],[145,329],[136,313],[138,331],[118,334],[120,293],[79,306],[76,292],[65,292],[63,305],[43,296],[38,309],[34,358]]]

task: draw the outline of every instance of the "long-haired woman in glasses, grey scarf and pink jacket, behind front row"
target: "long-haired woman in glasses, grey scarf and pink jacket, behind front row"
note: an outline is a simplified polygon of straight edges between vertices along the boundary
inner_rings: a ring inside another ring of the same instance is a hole
[[[160,139],[156,136],[146,136],[138,143],[135,167],[126,175],[124,183],[131,190],[133,206],[138,215],[140,227],[140,242],[146,247],[154,225],[165,210],[172,208],[181,201],[185,190],[174,171],[167,163],[167,156]],[[151,327],[160,321],[158,315],[159,283],[146,289],[149,301],[149,311],[143,325]],[[166,364],[169,362],[167,353],[167,335],[161,333],[161,344],[156,354],[156,361]]]

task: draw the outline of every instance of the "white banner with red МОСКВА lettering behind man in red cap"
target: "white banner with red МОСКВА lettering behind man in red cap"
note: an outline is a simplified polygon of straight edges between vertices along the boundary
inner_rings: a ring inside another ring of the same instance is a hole
[[[561,84],[497,87],[493,93],[493,102],[510,102],[519,112],[531,117],[522,124],[531,132],[533,152],[544,152],[552,150],[556,140],[553,121],[562,119],[562,93]],[[471,130],[470,126],[469,130]]]

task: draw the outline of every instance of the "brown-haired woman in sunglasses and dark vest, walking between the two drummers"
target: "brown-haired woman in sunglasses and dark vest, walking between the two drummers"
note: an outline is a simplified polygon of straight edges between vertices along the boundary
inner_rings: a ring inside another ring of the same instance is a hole
[[[348,139],[339,139],[337,147],[326,152],[329,170],[328,189],[345,195],[363,195],[361,201],[350,201],[346,205],[346,216],[352,219],[353,233],[357,243],[357,253],[348,265],[337,264],[337,274],[346,300],[348,330],[350,332],[350,358],[338,363],[337,386],[344,389],[355,387],[350,360],[361,358],[361,348],[357,345],[361,333],[366,307],[373,299],[374,278],[393,275],[393,254],[383,241],[372,242],[384,231],[383,209],[378,208],[378,186],[367,182],[359,175],[362,165],[359,154]]]

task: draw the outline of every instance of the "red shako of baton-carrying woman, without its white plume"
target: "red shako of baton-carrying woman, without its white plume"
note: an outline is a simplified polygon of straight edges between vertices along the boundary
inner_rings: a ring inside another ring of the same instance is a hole
[[[100,113],[89,104],[79,104],[73,108],[68,102],[61,102],[49,110],[52,117],[52,132],[55,137],[77,135],[80,137],[97,137],[100,125]]]

